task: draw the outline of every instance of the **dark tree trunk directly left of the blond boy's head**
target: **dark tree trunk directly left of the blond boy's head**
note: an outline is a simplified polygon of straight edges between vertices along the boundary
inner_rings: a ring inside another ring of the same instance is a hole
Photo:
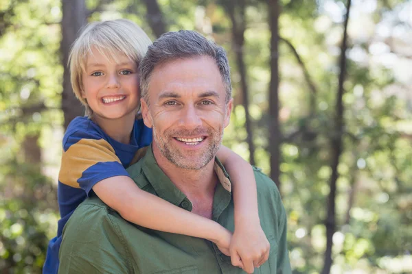
[[[65,129],[76,116],[84,115],[84,108],[76,99],[71,89],[70,71],[67,66],[70,47],[78,37],[82,26],[87,22],[87,9],[84,0],[62,0],[62,42],[60,51],[62,53],[63,92],[62,111],[65,117]]]

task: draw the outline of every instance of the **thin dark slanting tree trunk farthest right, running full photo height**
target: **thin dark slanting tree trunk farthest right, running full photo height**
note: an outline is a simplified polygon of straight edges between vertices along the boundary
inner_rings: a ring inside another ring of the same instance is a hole
[[[335,198],[336,198],[336,181],[339,177],[338,174],[338,165],[339,165],[339,158],[341,156],[343,150],[342,144],[342,136],[343,136],[343,84],[345,82],[346,77],[346,49],[347,49],[347,23],[349,21],[350,15],[350,5],[351,0],[347,1],[347,11],[346,11],[346,18],[345,18],[345,26],[343,29],[343,39],[341,45],[341,57],[339,60],[339,66],[341,68],[341,72],[339,73],[339,85],[338,85],[338,92],[336,95],[336,113],[334,117],[334,134],[331,136],[331,155],[332,161],[330,165],[330,169],[332,170],[332,175],[330,176],[330,193],[328,197],[328,214],[325,220],[325,227],[326,227],[326,250],[325,250],[325,260],[323,265],[322,274],[330,273],[330,268],[332,266],[332,238],[335,232],[336,227],[336,217],[335,217]]]

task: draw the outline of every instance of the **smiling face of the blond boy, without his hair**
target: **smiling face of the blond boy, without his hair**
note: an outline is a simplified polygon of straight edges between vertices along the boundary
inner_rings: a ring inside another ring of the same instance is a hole
[[[137,64],[126,55],[117,62],[92,48],[82,74],[82,97],[95,119],[122,119],[135,116],[139,105]]]

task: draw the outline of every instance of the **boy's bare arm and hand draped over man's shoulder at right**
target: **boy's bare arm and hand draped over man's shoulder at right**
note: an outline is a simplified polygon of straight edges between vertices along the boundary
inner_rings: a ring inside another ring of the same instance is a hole
[[[220,147],[218,158],[233,184],[235,232],[230,244],[231,262],[253,273],[254,267],[266,262],[270,250],[260,227],[255,175],[251,165],[227,147]]]

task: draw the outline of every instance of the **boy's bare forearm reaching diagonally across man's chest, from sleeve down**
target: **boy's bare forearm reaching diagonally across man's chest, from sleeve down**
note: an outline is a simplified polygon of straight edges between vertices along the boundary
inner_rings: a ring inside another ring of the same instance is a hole
[[[128,176],[103,179],[93,191],[124,219],[142,227],[205,238],[227,256],[231,233],[218,223],[141,190]]]

